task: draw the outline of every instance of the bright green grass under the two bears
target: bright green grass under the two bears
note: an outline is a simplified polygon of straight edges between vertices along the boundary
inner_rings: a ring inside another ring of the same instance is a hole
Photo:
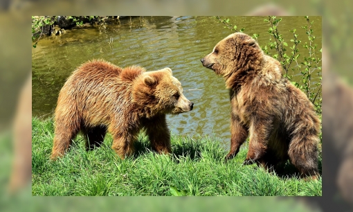
[[[172,136],[172,155],[163,155],[141,134],[134,157],[121,160],[110,134],[89,152],[78,136],[62,159],[51,161],[53,121],[33,118],[32,126],[32,195],[322,195],[321,178],[305,182],[288,164],[280,176],[243,166],[247,149],[224,161],[224,146],[209,137]]]

